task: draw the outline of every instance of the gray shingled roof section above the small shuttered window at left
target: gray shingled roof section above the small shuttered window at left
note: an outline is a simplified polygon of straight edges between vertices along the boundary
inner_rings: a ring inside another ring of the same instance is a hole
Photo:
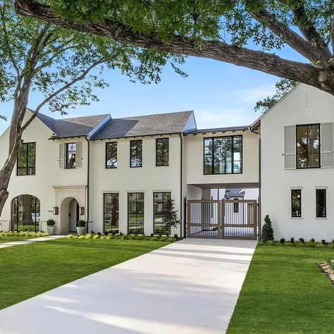
[[[54,132],[52,138],[66,138],[88,135],[89,132],[99,125],[108,115],[109,114],[55,120],[43,113],[39,113],[37,117]]]

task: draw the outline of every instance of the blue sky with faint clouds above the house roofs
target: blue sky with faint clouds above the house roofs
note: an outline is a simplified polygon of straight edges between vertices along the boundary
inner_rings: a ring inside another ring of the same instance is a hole
[[[303,61],[289,48],[280,56]],[[54,118],[66,118],[111,113],[111,117],[138,116],[149,113],[166,113],[193,110],[198,128],[217,128],[230,125],[249,125],[259,113],[254,105],[259,99],[273,94],[279,80],[272,75],[221,63],[204,58],[187,58],[183,70],[187,78],[181,78],[170,67],[163,70],[161,82],[151,85],[130,82],[118,71],[104,73],[110,87],[97,90],[99,102],[90,106],[69,109],[68,116],[50,113],[44,106],[42,113]],[[37,94],[30,95],[28,106],[38,104]],[[0,114],[10,120],[13,103],[0,104]],[[9,122],[0,120],[0,134]]]

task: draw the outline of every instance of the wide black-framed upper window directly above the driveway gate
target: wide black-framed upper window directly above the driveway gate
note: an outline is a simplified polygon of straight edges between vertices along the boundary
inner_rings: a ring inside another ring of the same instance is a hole
[[[204,174],[242,173],[242,135],[204,138]]]

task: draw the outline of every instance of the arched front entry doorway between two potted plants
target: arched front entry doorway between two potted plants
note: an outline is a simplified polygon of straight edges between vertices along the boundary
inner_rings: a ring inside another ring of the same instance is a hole
[[[76,231],[79,220],[79,202],[74,197],[66,197],[61,202],[61,234]]]

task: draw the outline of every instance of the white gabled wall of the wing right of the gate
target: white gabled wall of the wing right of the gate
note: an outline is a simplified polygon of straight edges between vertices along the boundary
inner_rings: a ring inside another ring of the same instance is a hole
[[[334,237],[334,169],[284,169],[284,127],[331,123],[334,97],[297,86],[261,119],[261,217],[271,216],[275,238]],[[291,218],[291,189],[302,187],[302,218]],[[327,187],[327,218],[316,218],[316,187]]]

